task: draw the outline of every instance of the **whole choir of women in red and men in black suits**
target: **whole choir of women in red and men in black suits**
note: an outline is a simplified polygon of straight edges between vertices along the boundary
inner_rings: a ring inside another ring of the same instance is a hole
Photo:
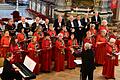
[[[94,13],[91,20],[88,14],[82,19],[80,15],[75,19],[70,15],[67,21],[58,15],[53,24],[49,23],[49,19],[43,23],[41,18],[36,17],[30,25],[25,17],[21,17],[21,22],[16,26],[10,19],[5,25],[4,34],[1,34],[0,56],[6,58],[6,53],[12,52],[14,56],[11,63],[22,63],[28,55],[37,63],[33,71],[35,74],[52,71],[54,62],[54,70],[59,72],[65,68],[74,69],[75,54],[80,54],[80,48],[84,52],[85,44],[89,43],[92,44],[96,65],[103,65],[104,77],[114,78],[120,38],[116,30],[108,29],[107,24],[106,20],[101,21],[98,12]]]

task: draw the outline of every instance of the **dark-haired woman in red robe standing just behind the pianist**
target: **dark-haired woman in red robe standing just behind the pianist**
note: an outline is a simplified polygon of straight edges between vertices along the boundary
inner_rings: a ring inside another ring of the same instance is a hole
[[[11,43],[10,43],[10,52],[13,53],[14,57],[12,59],[12,63],[22,63],[24,58],[23,58],[23,50],[21,49],[22,47],[18,43],[18,39],[12,38]]]

